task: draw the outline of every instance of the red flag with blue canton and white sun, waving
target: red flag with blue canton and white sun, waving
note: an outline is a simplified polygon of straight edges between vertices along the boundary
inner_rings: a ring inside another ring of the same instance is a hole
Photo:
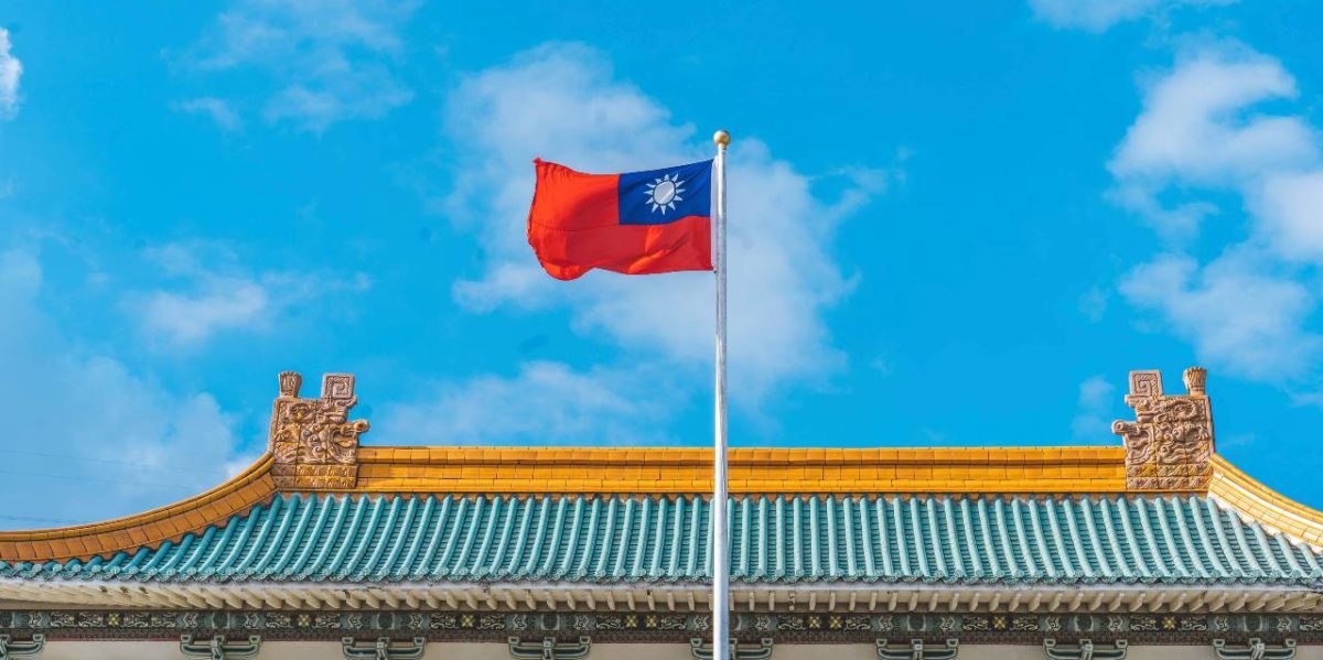
[[[712,270],[712,161],[586,175],[537,159],[528,243],[556,279]]]

